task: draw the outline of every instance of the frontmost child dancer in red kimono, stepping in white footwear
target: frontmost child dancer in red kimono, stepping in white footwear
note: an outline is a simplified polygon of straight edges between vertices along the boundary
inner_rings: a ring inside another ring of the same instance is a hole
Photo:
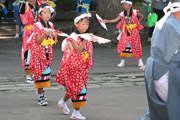
[[[83,34],[88,30],[90,13],[79,13],[74,19],[75,31],[66,39],[68,42],[61,62],[56,81],[66,87],[65,96],[58,102],[60,110],[69,114],[66,101],[71,98],[74,111],[70,119],[85,120],[79,112],[80,107],[86,106],[86,90],[88,80],[88,68],[92,66],[92,42],[80,38],[77,34]]]

